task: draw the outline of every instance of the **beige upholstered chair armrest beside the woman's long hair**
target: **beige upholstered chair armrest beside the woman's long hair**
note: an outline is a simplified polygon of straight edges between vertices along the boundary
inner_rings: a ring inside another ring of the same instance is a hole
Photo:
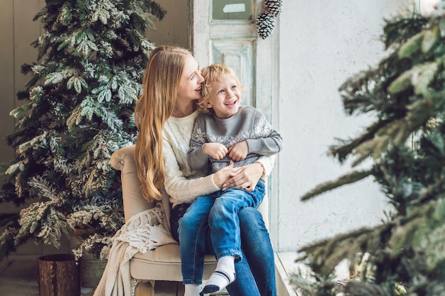
[[[141,192],[141,182],[137,176],[134,146],[127,146],[114,151],[110,165],[121,171],[122,198],[124,200],[124,216],[127,222],[132,216],[151,209],[156,202],[148,202]]]

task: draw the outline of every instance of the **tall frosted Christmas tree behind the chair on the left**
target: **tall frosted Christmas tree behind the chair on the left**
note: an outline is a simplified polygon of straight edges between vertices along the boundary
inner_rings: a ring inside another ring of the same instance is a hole
[[[18,94],[23,104],[9,145],[0,202],[24,206],[1,214],[0,258],[32,239],[60,246],[80,236],[75,254],[107,252],[124,223],[114,150],[134,143],[133,110],[154,44],[147,29],[166,12],[149,0],[47,0],[35,20],[45,33]]]

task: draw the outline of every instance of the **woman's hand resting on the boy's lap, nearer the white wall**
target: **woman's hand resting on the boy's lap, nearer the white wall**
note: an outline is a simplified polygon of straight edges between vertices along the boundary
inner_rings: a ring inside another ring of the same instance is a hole
[[[232,172],[228,176],[228,180],[224,182],[223,190],[238,187],[251,192],[255,189],[259,178],[264,174],[264,168],[261,163],[251,163],[240,168],[233,168],[232,164],[230,166]]]

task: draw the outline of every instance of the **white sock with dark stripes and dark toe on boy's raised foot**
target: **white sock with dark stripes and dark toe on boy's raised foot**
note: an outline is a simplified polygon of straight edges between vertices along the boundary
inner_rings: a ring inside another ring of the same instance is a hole
[[[205,283],[203,293],[218,292],[233,283],[235,278],[235,256],[223,256],[218,260],[215,271]]]

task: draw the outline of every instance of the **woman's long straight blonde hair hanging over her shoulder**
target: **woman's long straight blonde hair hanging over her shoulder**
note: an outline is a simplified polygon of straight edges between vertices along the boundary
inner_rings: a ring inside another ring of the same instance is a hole
[[[162,198],[160,190],[165,179],[162,129],[173,114],[188,55],[190,51],[176,46],[152,50],[142,82],[144,90],[134,109],[138,128],[134,157],[142,194],[149,202]]]

